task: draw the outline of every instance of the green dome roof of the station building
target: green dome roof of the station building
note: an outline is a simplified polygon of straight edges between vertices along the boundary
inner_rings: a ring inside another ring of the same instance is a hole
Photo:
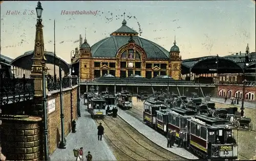
[[[126,21],[122,22],[121,28],[91,47],[92,57],[116,57],[119,48],[129,43],[130,36],[133,35],[135,44],[144,49],[149,59],[168,59],[169,52],[158,44],[141,38],[133,29],[126,26]]]

